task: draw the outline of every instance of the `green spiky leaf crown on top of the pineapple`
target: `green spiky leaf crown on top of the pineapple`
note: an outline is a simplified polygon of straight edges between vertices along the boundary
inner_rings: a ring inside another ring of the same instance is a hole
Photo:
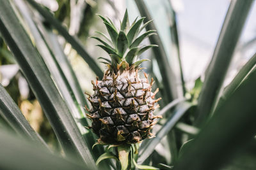
[[[148,60],[136,60],[141,53],[145,52],[149,48],[152,48],[157,45],[147,45],[147,46],[140,46],[141,42],[148,38],[148,36],[152,36],[156,34],[155,30],[150,30],[140,34],[143,29],[150,23],[152,20],[148,21],[147,23],[143,24],[143,20],[145,17],[138,19],[138,17],[129,24],[129,17],[127,10],[125,11],[124,18],[122,22],[120,21],[120,29],[118,29],[113,22],[109,18],[102,17],[102,15],[98,15],[104,25],[108,30],[109,37],[103,34],[102,32],[97,32],[101,36],[103,36],[106,40],[102,40],[93,36],[93,39],[97,39],[102,45],[97,45],[106,51],[111,60],[104,59],[100,57],[99,59],[103,59],[104,64],[107,64],[111,67],[114,71],[118,71],[119,68],[129,69],[129,67],[138,68],[140,67],[141,63]],[[138,20],[137,20],[138,19]],[[117,70],[116,70],[117,69]]]

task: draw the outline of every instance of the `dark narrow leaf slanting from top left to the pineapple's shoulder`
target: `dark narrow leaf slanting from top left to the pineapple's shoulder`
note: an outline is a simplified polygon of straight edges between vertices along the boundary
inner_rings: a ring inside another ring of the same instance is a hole
[[[88,52],[86,52],[86,50],[84,50],[84,46],[79,41],[79,39],[76,38],[75,36],[71,36],[68,33],[67,29],[65,29],[65,27],[63,27],[63,25],[61,25],[61,23],[58,20],[56,20],[56,18],[54,18],[49,11],[47,11],[45,8],[42,8],[42,6],[40,6],[34,0],[28,0],[28,3],[31,4],[31,6],[33,6],[33,8],[35,8],[42,15],[42,17],[45,18],[47,22],[49,22],[53,27],[55,27],[55,29],[68,41],[68,43],[72,45],[74,50],[76,50],[76,52],[79,55],[81,55],[81,57],[83,57],[83,59],[86,61],[88,66],[90,66],[92,71],[99,78],[102,78],[103,76],[102,70],[100,69],[98,64],[95,62],[93,57],[90,56]]]

